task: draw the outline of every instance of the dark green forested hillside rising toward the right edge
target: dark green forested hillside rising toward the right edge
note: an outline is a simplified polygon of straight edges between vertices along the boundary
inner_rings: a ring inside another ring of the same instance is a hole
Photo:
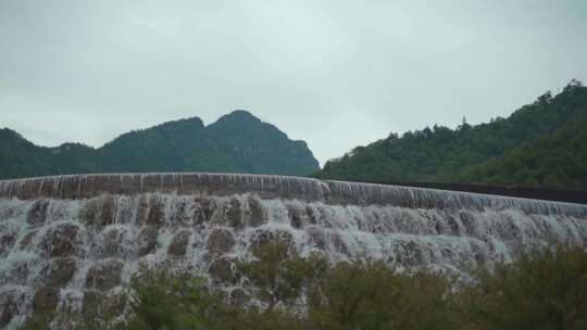
[[[572,80],[508,118],[390,134],[328,161],[320,178],[587,189],[587,88]]]

